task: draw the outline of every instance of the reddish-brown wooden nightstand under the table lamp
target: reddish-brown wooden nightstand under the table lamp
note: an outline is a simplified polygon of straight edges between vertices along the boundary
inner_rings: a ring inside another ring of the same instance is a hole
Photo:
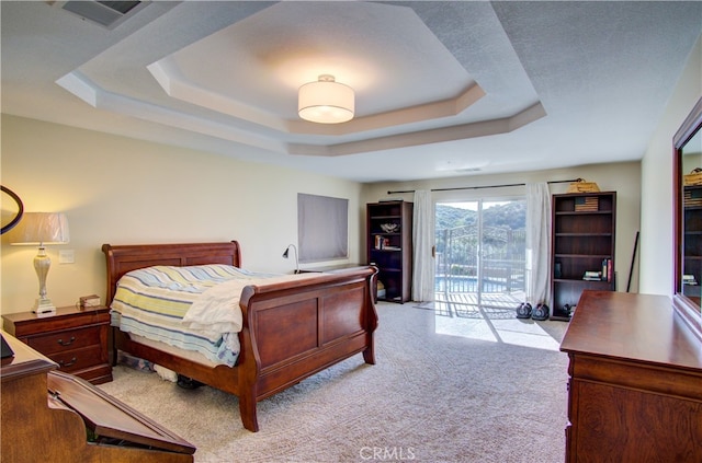
[[[107,336],[110,309],[75,306],[37,317],[33,312],[2,315],[4,331],[58,363],[61,371],[93,384],[112,381]]]

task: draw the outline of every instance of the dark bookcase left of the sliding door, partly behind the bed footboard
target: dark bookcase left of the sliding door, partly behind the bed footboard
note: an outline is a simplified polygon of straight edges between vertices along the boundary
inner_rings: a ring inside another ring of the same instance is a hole
[[[412,213],[414,204],[407,201],[366,205],[367,263],[378,269],[378,300],[411,299]]]

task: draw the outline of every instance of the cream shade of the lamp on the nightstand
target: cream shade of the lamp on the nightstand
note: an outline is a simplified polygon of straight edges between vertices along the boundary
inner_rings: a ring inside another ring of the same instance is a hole
[[[64,244],[70,240],[68,219],[61,212],[24,212],[8,233],[10,244]]]

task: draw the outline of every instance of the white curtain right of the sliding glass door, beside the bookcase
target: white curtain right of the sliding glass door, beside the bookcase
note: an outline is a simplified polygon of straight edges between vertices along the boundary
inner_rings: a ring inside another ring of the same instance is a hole
[[[526,302],[551,304],[551,194],[526,184]]]

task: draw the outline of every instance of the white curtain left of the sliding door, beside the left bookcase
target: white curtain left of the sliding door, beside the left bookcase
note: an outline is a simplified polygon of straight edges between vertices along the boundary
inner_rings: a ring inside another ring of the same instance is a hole
[[[415,192],[412,223],[412,301],[434,300],[434,215],[431,192]]]

